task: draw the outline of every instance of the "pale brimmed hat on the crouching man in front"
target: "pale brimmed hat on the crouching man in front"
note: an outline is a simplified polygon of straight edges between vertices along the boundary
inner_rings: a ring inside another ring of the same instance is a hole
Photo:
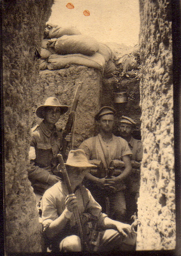
[[[84,150],[70,150],[67,162],[67,165],[73,167],[96,167],[94,164],[90,164],[87,160]]]

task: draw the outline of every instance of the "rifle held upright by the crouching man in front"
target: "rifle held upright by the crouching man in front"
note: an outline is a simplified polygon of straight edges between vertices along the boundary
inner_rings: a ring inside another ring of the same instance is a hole
[[[69,177],[68,177],[68,173],[67,173],[65,164],[63,162],[63,157],[62,157],[61,154],[58,154],[57,156],[58,156],[58,159],[59,159],[59,162],[60,162],[60,165],[58,165],[59,167],[57,167],[57,169],[59,171],[61,170],[63,180],[64,180],[64,182],[67,186],[67,189],[68,189],[68,193],[73,194],[71,184],[70,184],[70,180],[69,180]],[[77,222],[77,225],[78,225],[78,230],[79,230],[80,240],[81,240],[81,246],[82,246],[82,248],[85,248],[86,250],[88,250],[87,243],[86,243],[86,241],[84,241],[83,229],[82,229],[82,225],[81,225],[81,221],[80,221],[80,214],[79,214],[79,210],[78,210],[77,206],[74,208],[74,216],[75,216],[75,219],[76,219],[76,222]]]

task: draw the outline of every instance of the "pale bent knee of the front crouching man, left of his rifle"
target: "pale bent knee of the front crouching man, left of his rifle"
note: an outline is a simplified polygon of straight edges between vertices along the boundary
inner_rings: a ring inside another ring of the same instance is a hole
[[[60,250],[63,251],[81,251],[81,241],[78,236],[72,235],[63,239]]]

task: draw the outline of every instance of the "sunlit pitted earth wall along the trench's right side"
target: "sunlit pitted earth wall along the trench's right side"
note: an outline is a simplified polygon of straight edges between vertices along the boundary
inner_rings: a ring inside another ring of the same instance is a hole
[[[144,154],[137,250],[175,248],[171,3],[140,0],[140,106]]]

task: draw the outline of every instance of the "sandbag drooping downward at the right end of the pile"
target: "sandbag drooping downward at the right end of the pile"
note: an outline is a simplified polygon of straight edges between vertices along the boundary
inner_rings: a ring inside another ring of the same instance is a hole
[[[112,73],[117,69],[113,62],[113,53],[111,49],[103,43],[99,43],[98,53],[100,53],[105,59],[104,66],[104,77],[110,78],[112,77]]]

